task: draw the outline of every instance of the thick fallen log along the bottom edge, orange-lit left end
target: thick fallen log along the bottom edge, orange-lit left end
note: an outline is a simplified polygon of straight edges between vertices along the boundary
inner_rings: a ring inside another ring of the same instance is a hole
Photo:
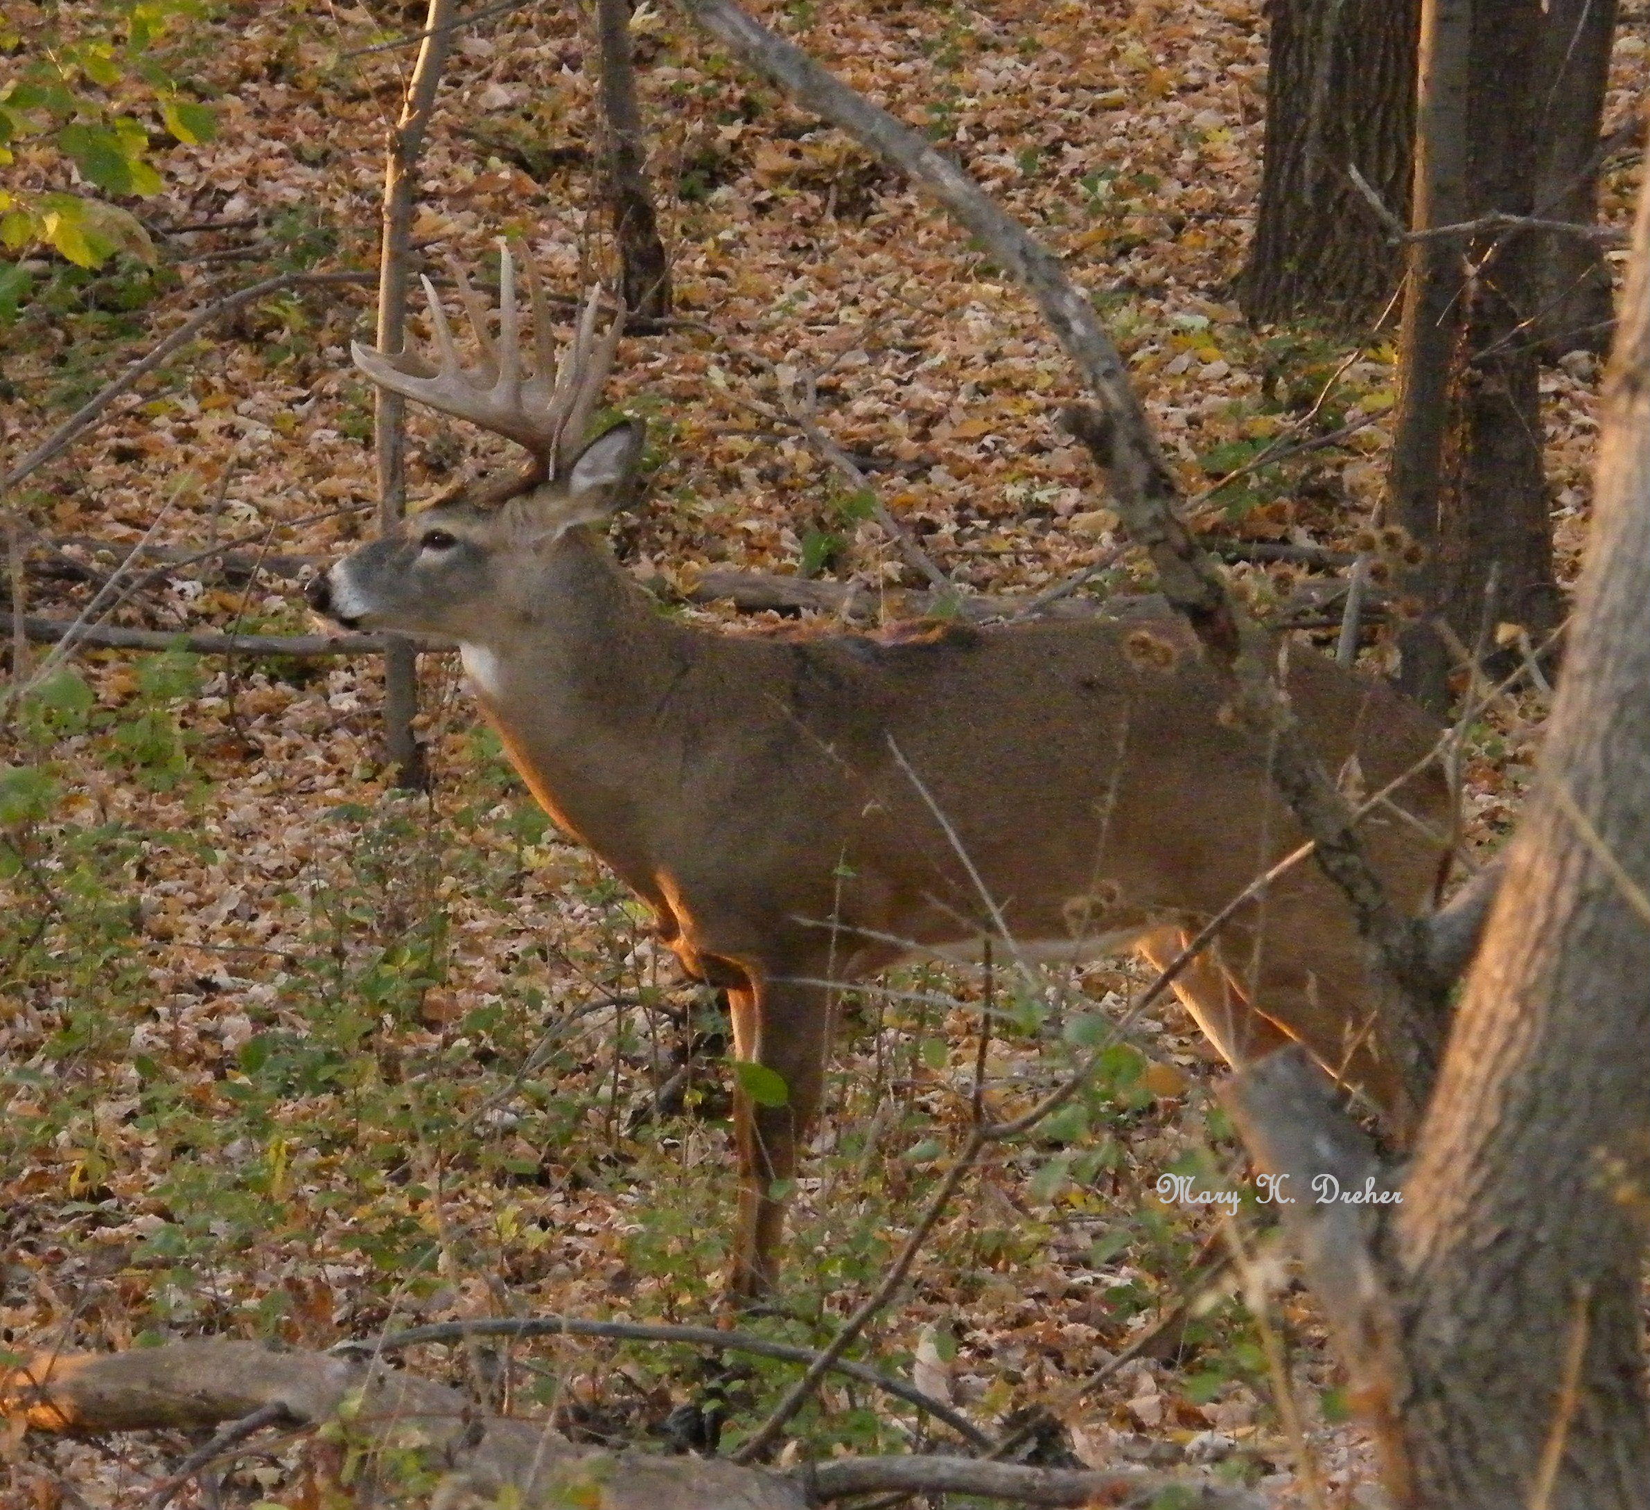
[[[1145,1469],[1077,1472],[964,1457],[871,1457],[790,1474],[726,1461],[576,1447],[546,1424],[480,1411],[446,1385],[337,1353],[269,1352],[201,1339],[124,1353],[43,1353],[0,1373],[0,1418],[46,1433],[188,1429],[234,1423],[223,1451],[277,1421],[337,1423],[358,1459],[417,1449],[444,1470],[431,1503],[521,1510],[807,1510],[876,1490],[955,1492],[1028,1505],[1262,1510],[1246,1490]],[[190,1457],[200,1465],[201,1452]],[[363,1462],[363,1467],[366,1464]],[[173,1475],[162,1492],[175,1492]]]

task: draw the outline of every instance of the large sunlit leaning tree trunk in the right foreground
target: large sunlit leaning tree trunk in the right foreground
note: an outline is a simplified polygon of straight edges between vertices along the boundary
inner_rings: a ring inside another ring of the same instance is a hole
[[[1650,195],[1592,531],[1541,780],[1396,1218],[1404,1449],[1416,1503],[1452,1510],[1650,1505]]]

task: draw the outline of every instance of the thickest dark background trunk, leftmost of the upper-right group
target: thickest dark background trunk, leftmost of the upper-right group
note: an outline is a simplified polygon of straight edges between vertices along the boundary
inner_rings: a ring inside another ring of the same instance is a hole
[[[1239,298],[1252,321],[1365,330],[1391,300],[1402,252],[1348,165],[1409,203],[1421,0],[1272,0],[1266,162]]]

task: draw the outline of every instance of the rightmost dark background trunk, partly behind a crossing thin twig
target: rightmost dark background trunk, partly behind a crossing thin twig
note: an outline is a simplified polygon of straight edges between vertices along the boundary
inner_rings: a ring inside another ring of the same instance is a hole
[[[1599,211],[1599,135],[1610,77],[1615,0],[1548,0],[1536,140],[1536,211],[1591,226]],[[1546,359],[1609,351],[1610,274],[1597,242],[1541,237],[1536,308]]]

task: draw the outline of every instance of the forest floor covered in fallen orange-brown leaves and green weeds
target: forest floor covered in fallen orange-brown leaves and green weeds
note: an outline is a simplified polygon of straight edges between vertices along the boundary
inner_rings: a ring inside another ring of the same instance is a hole
[[[411,54],[371,48],[416,30],[414,7],[394,10],[226,3],[191,30],[186,71],[219,134],[170,152],[167,191],[137,206],[157,267],[48,267],[0,331],[12,460],[213,297],[279,270],[373,267],[384,129]],[[1236,310],[1262,140],[1257,3],[794,3],[769,18],[927,127],[1064,254],[1188,495],[1290,427],[1308,438],[1366,417],[1345,443],[1196,509],[1234,541],[1350,547],[1391,438],[1394,325],[1353,346],[1254,331]],[[853,577],[889,613],[921,585],[771,417],[776,382],[805,369],[820,373],[818,422],[959,592],[1036,592],[1119,544],[1086,457],[1053,424],[1077,396],[1072,373],[998,269],[676,12],[642,7],[634,31],[681,317],[625,340],[612,384],[653,437],[652,496],[614,529],[637,577],[723,633],[782,625],[688,607],[713,569]],[[1647,36],[1643,15],[1622,26],[1607,127],[1635,107]],[[462,33],[419,173],[414,237],[432,257],[483,264],[513,232],[558,290],[610,267],[587,51],[574,7],[525,5]],[[1615,223],[1635,180],[1607,180]],[[182,552],[238,541],[302,575],[287,559],[370,536],[371,402],[348,363],[370,308],[366,287],[272,297],[36,473],[18,499],[30,612],[74,617],[92,592],[74,564],[109,570],[145,537]],[[1543,376],[1566,580],[1586,541],[1596,381],[1584,354]],[[421,412],[411,432],[414,493],[498,455]],[[1310,587],[1299,567],[1233,575],[1262,610]],[[1092,590],[1145,580],[1124,556]],[[310,628],[297,582],[262,567],[206,559],[139,582],[114,623]],[[1391,664],[1384,628],[1365,663]],[[0,1348],[196,1334],[328,1347],[477,1315],[706,1320],[733,1210],[714,1002],[546,826],[478,732],[455,661],[422,663],[422,795],[393,791],[380,763],[375,659],[86,649],[68,668],[0,750],[38,773],[8,788],[16,859],[0,882]],[[1467,729],[1472,847],[1516,818],[1543,715],[1525,691]],[[1000,981],[990,1103],[1006,1113],[1053,1085],[1138,984],[1127,964]],[[782,1314],[751,1322],[767,1335],[832,1335],[967,1134],[980,976],[909,969],[888,986],[846,1014]],[[655,1109],[690,1043],[691,1091]],[[1081,1116],[965,1185],[861,1355],[992,1429],[1046,1411],[1048,1454],[1214,1464],[1277,1503],[1378,1503],[1266,1212],[1251,1200],[1224,1222],[1158,1193],[1170,1172],[1244,1184],[1218,1078],[1178,1007],[1145,1014]],[[1092,1381],[1188,1296],[1185,1327]],[[663,1446],[706,1391],[686,1348],[558,1339],[412,1363],[586,1439]],[[790,1376],[759,1362],[734,1381],[724,1444]],[[936,1439],[903,1406],[835,1385],[797,1434],[817,1454]],[[127,1507],[180,1456],[155,1437],[13,1441],[0,1482],[40,1510]],[[223,1494],[312,1505],[312,1472],[304,1444],[279,1442],[241,1459]]]

